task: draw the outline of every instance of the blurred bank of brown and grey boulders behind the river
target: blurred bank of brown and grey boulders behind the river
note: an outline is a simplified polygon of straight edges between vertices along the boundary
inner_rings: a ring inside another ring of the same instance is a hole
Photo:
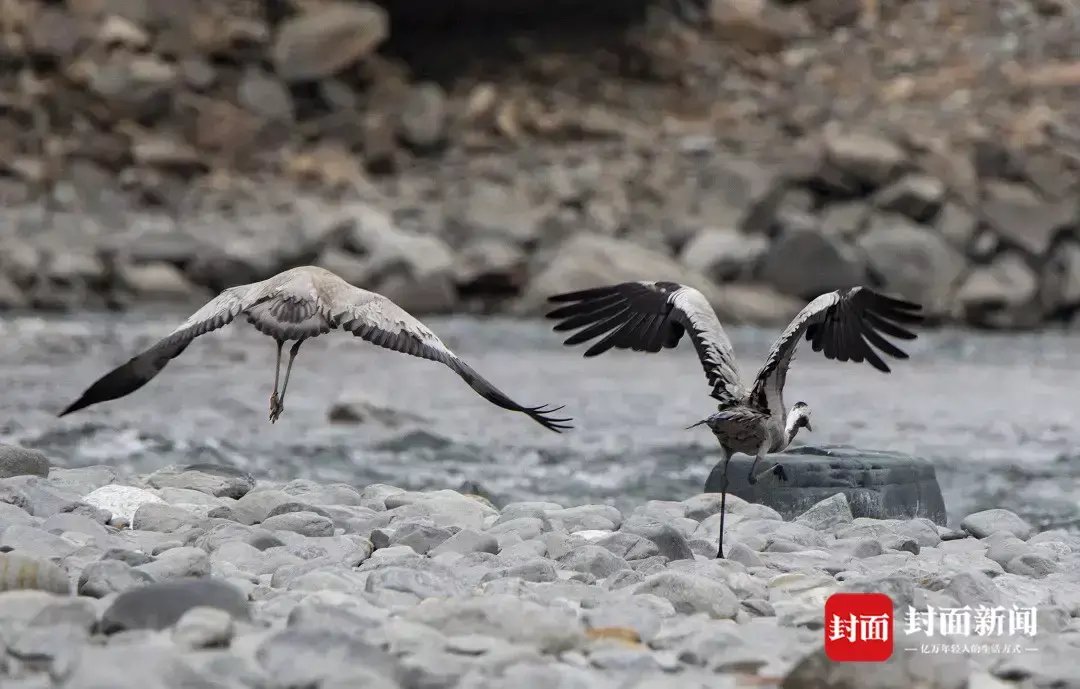
[[[1071,0],[0,0],[0,309],[313,262],[417,313],[1076,326],[1078,55]]]

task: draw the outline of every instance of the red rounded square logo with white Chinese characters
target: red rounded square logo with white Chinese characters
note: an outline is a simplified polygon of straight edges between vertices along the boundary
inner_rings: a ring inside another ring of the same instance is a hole
[[[883,593],[834,593],[825,599],[825,656],[841,663],[889,660],[892,614]]]

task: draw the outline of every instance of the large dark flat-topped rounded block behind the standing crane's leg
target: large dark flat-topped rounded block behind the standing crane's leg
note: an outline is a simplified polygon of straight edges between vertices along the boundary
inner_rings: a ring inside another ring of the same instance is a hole
[[[798,447],[769,455],[782,464],[787,481],[768,474],[747,481],[753,457],[735,455],[728,468],[728,490],[747,502],[768,505],[794,519],[815,503],[842,492],[854,517],[946,521],[945,501],[934,465],[924,459],[846,445]],[[757,471],[767,468],[758,465]],[[713,468],[705,492],[720,491],[723,464]]]

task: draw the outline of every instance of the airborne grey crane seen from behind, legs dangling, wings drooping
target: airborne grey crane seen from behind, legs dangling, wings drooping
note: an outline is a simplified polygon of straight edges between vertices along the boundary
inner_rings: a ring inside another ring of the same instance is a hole
[[[258,332],[269,335],[278,343],[278,364],[270,394],[271,422],[275,422],[285,408],[285,389],[300,344],[309,338],[341,328],[373,344],[445,364],[491,404],[526,414],[545,429],[558,433],[572,428],[567,423],[571,419],[551,417],[563,407],[523,407],[481,377],[434,333],[393,301],[354,287],[328,270],[314,266],[293,268],[262,282],[222,291],[170,335],[102,376],[59,416],[135,392],[161,373],[165,364],[187,349],[194,338],[228,325],[241,314]],[[288,352],[285,379],[279,392],[281,352],[288,340],[296,342]]]

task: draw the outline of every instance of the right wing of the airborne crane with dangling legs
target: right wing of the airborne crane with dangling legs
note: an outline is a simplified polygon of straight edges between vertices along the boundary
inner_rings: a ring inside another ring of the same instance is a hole
[[[548,430],[562,433],[573,428],[568,423],[569,418],[551,417],[563,407],[524,407],[508,397],[443,344],[423,323],[382,295],[342,282],[333,299],[330,318],[341,328],[373,344],[445,364],[491,404],[521,411]]]

